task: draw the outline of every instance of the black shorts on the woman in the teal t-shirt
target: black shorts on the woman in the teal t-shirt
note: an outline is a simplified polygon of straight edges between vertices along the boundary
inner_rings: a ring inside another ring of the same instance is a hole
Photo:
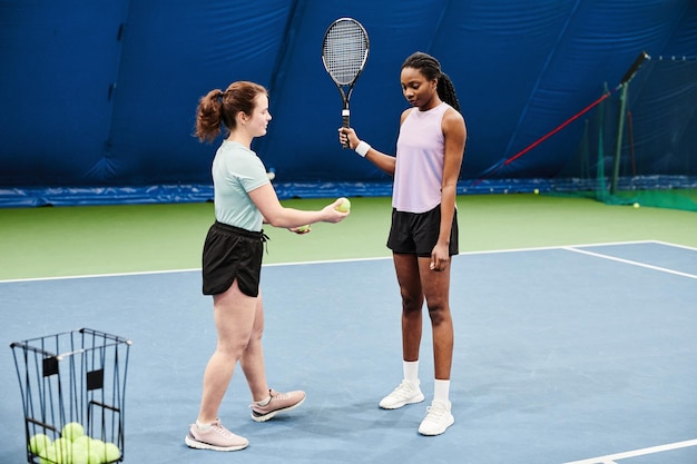
[[[263,230],[245,230],[216,220],[204,244],[204,295],[222,294],[237,279],[242,293],[258,296],[264,241]]]

